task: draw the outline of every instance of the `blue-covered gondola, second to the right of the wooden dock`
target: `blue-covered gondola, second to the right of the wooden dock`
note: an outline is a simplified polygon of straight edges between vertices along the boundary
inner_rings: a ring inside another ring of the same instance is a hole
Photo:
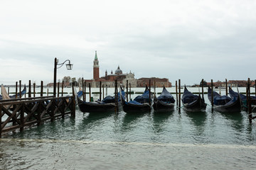
[[[124,112],[126,113],[141,113],[141,112],[147,112],[151,110],[151,106],[149,104],[149,101],[151,101],[151,98],[149,98],[149,89],[146,86],[146,89],[144,91],[144,94],[141,96],[137,96],[127,102],[125,101],[124,96],[122,96],[122,108]]]

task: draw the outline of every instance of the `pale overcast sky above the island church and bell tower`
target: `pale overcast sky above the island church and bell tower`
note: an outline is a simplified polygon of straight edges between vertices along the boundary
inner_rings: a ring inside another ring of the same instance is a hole
[[[256,79],[256,1],[0,0],[0,84],[92,79],[118,65],[135,78],[198,84]]]

